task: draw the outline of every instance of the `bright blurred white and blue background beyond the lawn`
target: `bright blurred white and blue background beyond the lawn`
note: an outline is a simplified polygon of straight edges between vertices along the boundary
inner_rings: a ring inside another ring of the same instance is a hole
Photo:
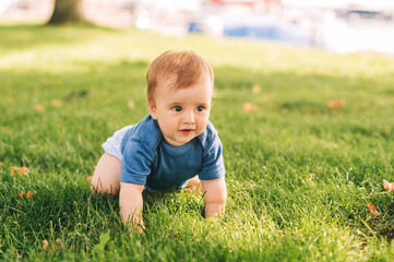
[[[59,0],[58,0],[59,1]],[[64,0],[60,0],[64,1]],[[65,0],[67,1],[67,0]],[[0,24],[47,23],[55,0],[1,0]],[[76,0],[97,25],[246,37],[332,52],[394,55],[392,0]]]

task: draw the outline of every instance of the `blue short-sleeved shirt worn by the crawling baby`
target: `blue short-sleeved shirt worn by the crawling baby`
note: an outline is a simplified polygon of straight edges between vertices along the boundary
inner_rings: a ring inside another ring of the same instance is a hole
[[[174,146],[163,138],[151,115],[126,132],[120,181],[146,186],[155,191],[181,189],[190,178],[212,180],[225,175],[222,143],[214,126],[190,142]]]

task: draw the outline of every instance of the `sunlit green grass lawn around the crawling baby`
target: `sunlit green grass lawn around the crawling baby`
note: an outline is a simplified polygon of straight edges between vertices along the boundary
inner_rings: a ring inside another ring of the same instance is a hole
[[[382,187],[394,181],[393,58],[89,26],[2,26],[0,39],[1,260],[393,258],[394,194]],[[215,71],[227,214],[206,221],[201,198],[167,195],[145,204],[139,236],[86,178],[106,138],[147,114],[147,66],[172,48],[195,50]],[[337,99],[343,108],[329,109]],[[247,102],[258,110],[246,112]],[[27,191],[36,193],[17,196]]]

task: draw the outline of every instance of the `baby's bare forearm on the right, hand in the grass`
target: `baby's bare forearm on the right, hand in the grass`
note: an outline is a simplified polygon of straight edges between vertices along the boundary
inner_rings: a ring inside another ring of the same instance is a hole
[[[205,217],[225,213],[227,188],[225,177],[214,180],[201,180],[204,193]]]

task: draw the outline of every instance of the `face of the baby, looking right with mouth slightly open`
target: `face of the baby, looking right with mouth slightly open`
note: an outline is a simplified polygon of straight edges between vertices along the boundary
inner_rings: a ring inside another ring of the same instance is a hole
[[[206,128],[211,111],[213,86],[203,75],[195,84],[174,91],[169,83],[157,86],[151,116],[157,120],[164,139],[171,145],[183,145]]]

